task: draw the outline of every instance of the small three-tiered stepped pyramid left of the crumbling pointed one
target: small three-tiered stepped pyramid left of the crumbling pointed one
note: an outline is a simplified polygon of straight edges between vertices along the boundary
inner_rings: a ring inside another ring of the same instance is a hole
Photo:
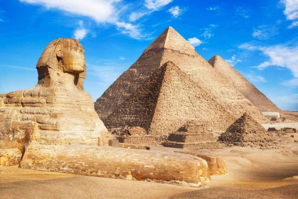
[[[200,121],[189,121],[169,135],[162,145],[181,149],[221,149],[213,134],[206,131]]]

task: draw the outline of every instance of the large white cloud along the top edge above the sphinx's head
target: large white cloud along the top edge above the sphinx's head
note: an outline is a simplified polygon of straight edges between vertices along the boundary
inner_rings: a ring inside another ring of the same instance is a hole
[[[30,4],[42,5],[48,9],[64,10],[66,12],[88,16],[97,23],[115,22],[117,8],[115,4],[120,0],[20,0]]]

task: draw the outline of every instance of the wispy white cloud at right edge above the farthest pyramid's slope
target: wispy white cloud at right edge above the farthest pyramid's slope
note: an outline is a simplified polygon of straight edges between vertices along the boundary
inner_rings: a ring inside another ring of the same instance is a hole
[[[298,86],[298,44],[277,44],[273,46],[256,46],[253,44],[242,44],[240,49],[246,50],[260,50],[266,55],[269,60],[264,61],[256,68],[263,70],[269,66],[283,67],[291,70],[294,78],[288,81],[284,81],[283,85]]]

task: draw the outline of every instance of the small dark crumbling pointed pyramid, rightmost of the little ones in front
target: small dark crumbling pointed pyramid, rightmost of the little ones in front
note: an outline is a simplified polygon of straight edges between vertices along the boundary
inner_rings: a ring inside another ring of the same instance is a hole
[[[235,146],[251,147],[271,147],[278,144],[276,138],[247,113],[226,129],[218,141]]]

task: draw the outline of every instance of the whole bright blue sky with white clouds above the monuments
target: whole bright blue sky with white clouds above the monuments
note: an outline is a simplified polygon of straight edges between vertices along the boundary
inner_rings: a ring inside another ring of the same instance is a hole
[[[85,48],[95,101],[168,26],[281,109],[298,110],[298,0],[0,0],[0,93],[34,87],[46,45],[70,37]]]

